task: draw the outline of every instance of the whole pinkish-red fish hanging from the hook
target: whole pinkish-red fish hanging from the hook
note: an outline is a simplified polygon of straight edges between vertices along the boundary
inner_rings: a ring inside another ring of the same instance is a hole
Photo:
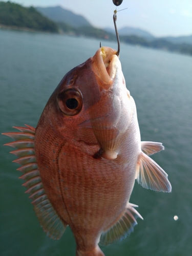
[[[126,238],[143,219],[130,203],[135,180],[170,192],[149,157],[162,143],[142,141],[137,110],[117,51],[99,48],[69,71],[48,100],[36,129],[13,126],[5,145],[21,165],[40,225],[52,239],[70,226],[77,256],[104,255],[99,245]]]

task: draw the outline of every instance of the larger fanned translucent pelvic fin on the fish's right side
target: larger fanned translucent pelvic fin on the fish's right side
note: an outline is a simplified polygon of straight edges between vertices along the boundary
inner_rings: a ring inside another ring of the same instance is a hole
[[[156,191],[170,192],[172,186],[167,176],[153,159],[143,152],[140,153],[136,179],[141,186]]]

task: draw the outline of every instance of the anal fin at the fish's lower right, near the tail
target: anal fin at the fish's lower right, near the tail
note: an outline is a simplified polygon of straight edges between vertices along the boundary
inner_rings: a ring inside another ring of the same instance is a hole
[[[124,215],[108,230],[101,234],[100,244],[108,245],[116,240],[126,238],[133,232],[134,226],[137,224],[136,219],[139,217],[143,220],[139,212],[134,208],[135,204],[128,203]]]

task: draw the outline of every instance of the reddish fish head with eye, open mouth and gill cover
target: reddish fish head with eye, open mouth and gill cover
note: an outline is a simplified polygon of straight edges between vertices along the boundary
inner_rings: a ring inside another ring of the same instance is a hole
[[[101,47],[63,77],[38,126],[48,121],[63,139],[98,145],[101,157],[115,159],[131,116],[132,100],[116,51]]]

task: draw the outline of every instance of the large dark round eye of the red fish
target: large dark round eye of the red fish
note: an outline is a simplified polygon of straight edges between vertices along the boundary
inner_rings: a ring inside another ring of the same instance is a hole
[[[82,108],[82,95],[79,91],[69,89],[58,96],[59,109],[68,116],[77,115]]]

